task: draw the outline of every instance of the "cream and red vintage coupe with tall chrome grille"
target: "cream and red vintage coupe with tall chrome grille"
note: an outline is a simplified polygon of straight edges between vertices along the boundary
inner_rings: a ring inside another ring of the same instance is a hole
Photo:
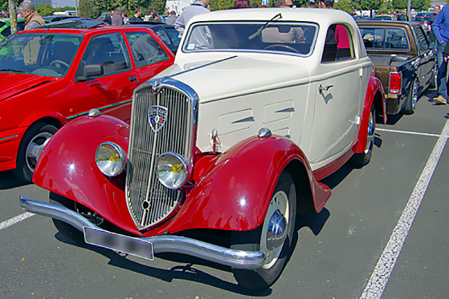
[[[349,159],[370,160],[384,115],[373,71],[342,11],[196,16],[175,64],[135,90],[130,125],[96,110],[67,124],[34,173],[50,203],[20,203],[67,239],[149,259],[192,255],[267,288],[295,246],[297,215],[330,196],[319,180]]]

